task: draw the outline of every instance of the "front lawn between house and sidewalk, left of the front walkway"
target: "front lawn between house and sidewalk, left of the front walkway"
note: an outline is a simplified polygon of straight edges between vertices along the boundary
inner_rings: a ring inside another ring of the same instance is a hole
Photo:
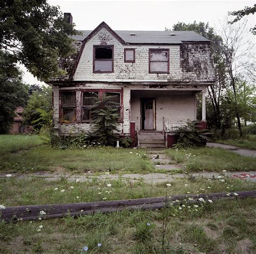
[[[142,149],[91,147],[61,150],[48,145],[23,150],[17,154],[4,154],[0,170],[8,172],[35,172],[66,170],[73,173],[107,171],[145,173],[155,171]]]

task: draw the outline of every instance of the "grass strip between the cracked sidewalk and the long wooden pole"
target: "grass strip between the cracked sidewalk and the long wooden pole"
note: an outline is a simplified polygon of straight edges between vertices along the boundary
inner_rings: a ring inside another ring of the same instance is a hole
[[[112,187],[107,187],[111,183]],[[47,181],[44,179],[1,179],[0,204],[5,206],[53,203],[79,203],[104,200],[125,200],[144,197],[158,197],[176,194],[218,193],[256,189],[256,183],[240,179],[180,179],[171,183],[147,184],[143,180],[130,183],[129,180],[94,179],[90,182]],[[56,189],[57,188],[57,189]],[[63,192],[61,190],[64,190]],[[78,198],[77,198],[78,197]],[[105,199],[106,198],[106,199]]]

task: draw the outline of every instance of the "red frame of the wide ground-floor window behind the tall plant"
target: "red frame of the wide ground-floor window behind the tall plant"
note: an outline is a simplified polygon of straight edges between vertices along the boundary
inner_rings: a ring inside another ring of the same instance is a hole
[[[122,89],[83,89],[80,90],[81,91],[81,116],[80,116],[80,120],[81,122],[84,123],[91,123],[91,120],[83,120],[83,93],[86,92],[98,92],[98,96],[102,97],[104,93],[120,93],[120,119],[118,120],[118,122],[123,122],[124,121],[124,113],[123,113],[123,88]]]

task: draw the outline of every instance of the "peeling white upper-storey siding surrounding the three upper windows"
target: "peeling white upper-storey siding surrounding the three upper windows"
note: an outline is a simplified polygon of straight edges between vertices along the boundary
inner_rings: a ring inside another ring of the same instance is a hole
[[[93,73],[93,45],[114,46],[114,72]],[[135,63],[124,63],[124,49],[135,48]],[[193,45],[191,45],[193,47]],[[191,59],[199,59],[201,64],[200,73],[196,69],[183,72],[180,62],[180,45],[123,45],[114,38],[109,31],[102,28],[84,46],[77,70],[73,77],[75,81],[209,81],[214,79],[213,66],[208,45],[201,47],[198,51],[191,49],[188,53],[188,64]],[[170,73],[149,73],[149,49],[170,50]]]

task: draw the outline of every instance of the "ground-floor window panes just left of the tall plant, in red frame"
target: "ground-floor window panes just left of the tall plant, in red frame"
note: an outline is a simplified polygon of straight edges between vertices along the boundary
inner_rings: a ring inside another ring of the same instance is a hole
[[[93,114],[92,105],[95,104],[96,98],[98,98],[98,92],[83,93],[83,105],[82,105],[83,121],[91,121],[95,117],[95,114]]]

